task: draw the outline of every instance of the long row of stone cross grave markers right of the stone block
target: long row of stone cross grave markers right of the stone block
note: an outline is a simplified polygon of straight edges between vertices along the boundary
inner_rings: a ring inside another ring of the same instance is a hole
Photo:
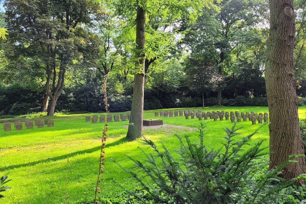
[[[173,117],[173,113],[174,113],[174,117],[178,117],[178,116],[183,116],[183,110],[175,110],[173,111],[160,111],[160,112],[155,112],[155,117],[158,117],[160,113],[160,116],[163,117]],[[238,111],[235,111],[235,113],[233,111],[229,112],[225,112],[224,110],[222,111],[208,111],[206,112],[202,112],[201,110],[184,110],[184,115],[186,119],[189,119],[189,116],[191,116],[191,119],[194,119],[195,116],[196,118],[200,120],[202,120],[202,118],[204,118],[204,120],[207,120],[208,117],[209,119],[214,119],[214,121],[217,121],[218,118],[220,121],[223,121],[223,118],[225,117],[225,120],[231,120],[231,122],[235,122],[235,119],[237,118],[238,122],[241,122],[241,118],[243,121],[247,121],[247,118],[249,121],[252,121],[252,124],[256,124],[256,120],[258,120],[258,123],[262,123],[262,121],[264,121],[265,123],[268,122],[268,113],[254,113],[253,111],[251,113],[249,112],[241,112],[239,113]]]

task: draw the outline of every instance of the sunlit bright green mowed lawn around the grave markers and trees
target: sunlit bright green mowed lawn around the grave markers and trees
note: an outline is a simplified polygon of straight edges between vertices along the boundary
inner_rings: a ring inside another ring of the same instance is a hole
[[[186,108],[185,108],[186,109]],[[191,108],[201,109],[202,111],[254,111],[255,113],[268,112],[267,107],[207,107]],[[170,110],[170,109],[163,109]],[[172,109],[175,110],[175,109]],[[183,109],[177,109],[183,110]],[[160,111],[160,110],[158,110]],[[299,107],[300,119],[305,118],[306,106]],[[112,113],[114,114],[114,113]],[[39,119],[54,119],[54,127],[37,129],[23,129],[4,132],[3,123],[0,124],[0,176],[7,175],[13,179],[7,185],[12,187],[3,194],[5,198],[0,203],[63,203],[65,197],[65,178],[67,174],[67,202],[75,203],[81,199],[92,199],[94,196],[96,176],[99,169],[99,154],[101,147],[102,123],[92,124],[85,122],[86,115],[94,114],[74,114],[66,116],[40,117]],[[198,140],[196,130],[190,131],[190,127],[196,127],[199,124],[197,119],[186,120],[185,117],[154,117],[154,110],[145,111],[144,118],[161,118],[164,124],[173,124],[181,127],[172,127],[168,129],[147,129],[144,130],[144,136],[155,142],[162,142],[175,152],[178,148],[178,140],[174,134],[191,136],[192,140]],[[33,118],[34,119],[34,118]],[[205,135],[205,145],[210,148],[221,146],[225,136],[222,128],[231,127],[230,121],[207,120],[207,134]],[[204,120],[202,122],[205,122]],[[103,195],[110,195],[120,191],[120,188],[113,183],[117,180],[126,187],[132,189],[135,182],[130,179],[122,169],[110,161],[114,158],[124,167],[132,167],[133,163],[129,161],[124,154],[134,158],[143,158],[138,146],[147,149],[140,140],[128,142],[125,140],[129,121],[109,123],[108,140],[105,149],[105,173],[102,177],[100,187]],[[253,132],[259,127],[259,124],[252,125],[251,122],[241,122],[238,127],[242,135],[237,139]],[[267,139],[265,145],[268,145],[269,138],[268,126],[264,126],[253,137],[254,141],[258,139]],[[67,164],[67,157],[69,163]]]

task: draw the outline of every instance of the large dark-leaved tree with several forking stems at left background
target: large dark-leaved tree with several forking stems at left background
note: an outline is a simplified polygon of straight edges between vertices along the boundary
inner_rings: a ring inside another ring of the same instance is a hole
[[[48,115],[52,116],[65,85],[66,70],[82,63],[82,49],[91,45],[83,38],[87,31],[80,25],[91,23],[99,4],[85,0],[6,0],[4,5],[12,49],[25,53],[17,56],[34,57],[37,67],[46,72],[42,110],[48,107]]]

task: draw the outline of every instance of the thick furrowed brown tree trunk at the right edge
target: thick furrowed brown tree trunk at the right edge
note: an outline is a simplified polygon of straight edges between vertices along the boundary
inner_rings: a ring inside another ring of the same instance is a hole
[[[266,58],[266,89],[270,114],[270,168],[292,154],[304,154],[300,136],[296,80],[293,74],[295,21],[293,0],[270,0],[270,33]],[[283,169],[285,179],[306,173],[304,157]]]

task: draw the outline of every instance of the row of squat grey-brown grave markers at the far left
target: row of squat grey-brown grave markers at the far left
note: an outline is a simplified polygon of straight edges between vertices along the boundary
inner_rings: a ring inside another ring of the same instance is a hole
[[[30,120],[25,120],[24,121],[24,126],[27,127],[27,129],[33,129],[35,126],[37,128],[43,128],[44,125],[47,125],[48,127],[54,127],[54,120],[50,119],[44,119],[43,120],[35,120],[35,122],[30,121]],[[14,128],[15,130],[22,130],[23,127],[23,122],[22,121],[15,121],[14,122]],[[11,131],[11,122],[5,121],[3,125],[4,131]]]

